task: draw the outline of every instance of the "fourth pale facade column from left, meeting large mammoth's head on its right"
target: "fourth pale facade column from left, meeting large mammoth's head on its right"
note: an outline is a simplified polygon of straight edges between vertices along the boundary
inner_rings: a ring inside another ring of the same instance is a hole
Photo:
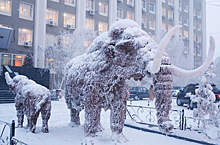
[[[134,20],[138,25],[141,26],[142,22],[142,1],[141,0],[135,0],[135,12],[134,12]]]

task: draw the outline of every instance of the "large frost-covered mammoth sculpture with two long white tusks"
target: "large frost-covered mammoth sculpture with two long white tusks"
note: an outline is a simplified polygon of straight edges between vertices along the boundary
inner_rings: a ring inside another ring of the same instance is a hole
[[[126,80],[142,80],[153,75],[159,129],[171,132],[172,75],[195,77],[203,73],[211,63],[214,40],[206,62],[196,70],[185,71],[171,64],[164,50],[181,26],[170,30],[158,45],[132,20],[120,20],[112,24],[108,33],[98,36],[88,51],[72,59],[66,66],[66,103],[71,110],[71,122],[79,125],[79,112],[85,109],[84,132],[94,136],[102,130],[101,108],[110,109],[110,126],[120,135],[124,126],[128,85]]]

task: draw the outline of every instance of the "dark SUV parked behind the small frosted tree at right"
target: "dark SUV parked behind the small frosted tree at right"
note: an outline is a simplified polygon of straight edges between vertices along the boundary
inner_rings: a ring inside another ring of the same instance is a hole
[[[212,92],[215,94],[216,97],[216,101],[218,102],[220,101],[220,90],[216,87],[215,84],[211,84],[213,90]],[[188,84],[187,86],[185,86],[183,89],[180,89],[178,94],[177,94],[177,99],[176,99],[176,103],[178,106],[183,106],[184,104],[189,104],[189,108],[193,109],[197,107],[197,103],[193,103],[190,100],[190,97],[187,96],[187,93],[191,93],[192,95],[195,95],[195,90],[199,87],[199,84]]]

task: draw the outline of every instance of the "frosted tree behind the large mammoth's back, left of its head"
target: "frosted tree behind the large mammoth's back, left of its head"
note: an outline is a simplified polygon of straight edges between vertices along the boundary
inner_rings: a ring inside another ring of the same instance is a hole
[[[46,37],[45,67],[53,74],[52,89],[61,89],[66,63],[85,53],[96,36],[97,33],[91,29],[76,29],[73,32],[63,30],[56,39],[49,35]]]

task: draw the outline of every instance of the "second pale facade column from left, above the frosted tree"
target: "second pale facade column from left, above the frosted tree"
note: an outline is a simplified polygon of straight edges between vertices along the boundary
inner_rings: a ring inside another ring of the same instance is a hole
[[[77,0],[76,7],[76,28],[85,29],[86,0]]]

